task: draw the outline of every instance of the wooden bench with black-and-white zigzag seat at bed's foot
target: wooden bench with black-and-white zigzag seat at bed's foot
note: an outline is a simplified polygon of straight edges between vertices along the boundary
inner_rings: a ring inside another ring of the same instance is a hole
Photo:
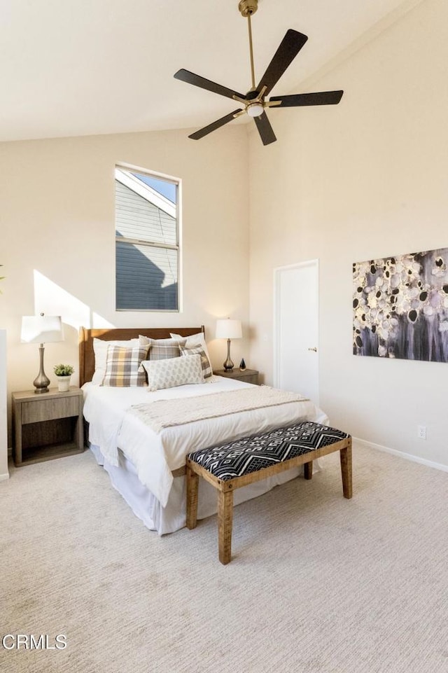
[[[313,460],[340,452],[342,491],[351,498],[351,436],[319,423],[306,421],[251,437],[244,437],[187,456],[187,527],[197,524],[197,490],[202,476],[218,491],[219,560],[232,556],[233,492],[292,467],[304,466],[311,479]]]

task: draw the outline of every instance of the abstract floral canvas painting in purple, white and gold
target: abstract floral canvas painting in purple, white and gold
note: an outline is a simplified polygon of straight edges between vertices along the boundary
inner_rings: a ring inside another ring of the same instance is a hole
[[[353,264],[353,354],[448,362],[448,248]]]

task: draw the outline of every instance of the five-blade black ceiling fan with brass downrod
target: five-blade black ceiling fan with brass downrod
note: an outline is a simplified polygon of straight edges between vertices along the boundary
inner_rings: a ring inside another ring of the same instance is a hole
[[[244,105],[244,108],[238,108],[237,110],[230,112],[228,115],[225,115],[225,117],[221,117],[221,119],[218,119],[208,126],[204,126],[204,128],[200,129],[199,131],[192,133],[190,136],[188,136],[189,138],[193,138],[193,140],[199,140],[212,131],[215,131],[221,126],[231,122],[233,119],[247,114],[249,117],[253,117],[263,145],[269,145],[269,143],[276,141],[276,137],[274,131],[272,130],[269,119],[267,118],[265,108],[300,107],[304,105],[335,105],[339,103],[340,99],[342,98],[342,94],[344,93],[343,91],[321,91],[316,93],[302,93],[290,96],[272,96],[269,98],[269,100],[266,100],[266,96],[272,90],[274,85],[276,85],[276,83],[279,81],[284,71],[286,71],[288,68],[289,64],[300,52],[308,38],[306,35],[299,33],[297,30],[289,29],[286,32],[286,35],[283,37],[279,48],[276,50],[272,61],[269,63],[265,74],[260,79],[258,85],[255,86],[251,15],[255,14],[257,8],[258,0],[241,0],[238,5],[239,12],[244,18],[247,18],[248,20],[252,88],[248,90],[246,95],[238,93],[232,89],[228,89],[225,86],[221,86],[221,84],[216,84],[215,82],[205,79],[204,77],[196,75],[194,72],[190,72],[188,70],[178,70],[174,75],[176,79],[180,79],[183,82],[193,84],[202,89],[207,89],[221,96],[232,98],[241,105]]]

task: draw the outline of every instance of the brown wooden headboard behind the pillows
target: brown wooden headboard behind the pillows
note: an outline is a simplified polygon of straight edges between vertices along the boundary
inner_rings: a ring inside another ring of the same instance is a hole
[[[106,329],[86,329],[81,327],[79,330],[79,385],[92,380],[95,369],[95,356],[93,351],[93,340],[103,339],[104,341],[138,339],[139,334],[151,339],[169,339],[169,333],[180,334],[181,336],[190,336],[198,332],[205,333],[204,325],[201,327],[123,327]]]

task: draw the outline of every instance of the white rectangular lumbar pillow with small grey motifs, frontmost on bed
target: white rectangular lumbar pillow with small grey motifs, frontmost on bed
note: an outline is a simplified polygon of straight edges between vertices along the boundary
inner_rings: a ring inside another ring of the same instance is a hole
[[[187,383],[204,383],[201,356],[191,355],[185,358],[166,360],[145,360],[142,365],[148,373],[148,390],[174,388]]]

